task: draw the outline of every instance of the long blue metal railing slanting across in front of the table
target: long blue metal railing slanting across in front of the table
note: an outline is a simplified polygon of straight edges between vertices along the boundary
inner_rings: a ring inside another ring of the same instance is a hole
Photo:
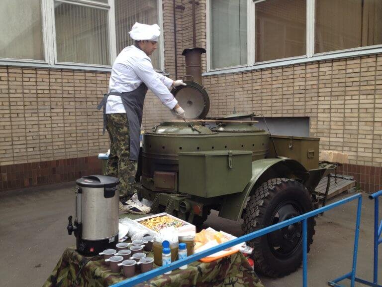
[[[173,263],[171,263],[168,266],[162,266],[160,268],[151,270],[149,272],[143,273],[141,275],[138,275],[136,277],[133,277],[131,279],[127,279],[121,282],[118,282],[111,287],[131,287],[135,286],[139,283],[145,282],[147,280],[150,280],[154,277],[160,276],[166,272],[169,272],[170,270],[177,269],[183,265],[190,264],[196,260],[199,260],[201,258],[204,258],[206,256],[209,256],[211,254],[214,254],[216,252],[222,251],[224,249],[230,248],[232,246],[235,246],[239,243],[243,243],[249,240],[252,240],[254,238],[266,235],[268,233],[271,233],[273,231],[282,229],[286,226],[289,226],[291,224],[297,223],[302,221],[302,286],[307,287],[307,219],[313,216],[316,216],[322,212],[328,211],[334,207],[343,205],[345,203],[348,203],[350,201],[353,201],[355,199],[358,199],[358,208],[357,208],[357,221],[356,221],[356,232],[355,232],[355,239],[354,239],[354,253],[353,253],[353,265],[352,265],[352,287],[354,287],[354,279],[355,279],[355,271],[356,271],[356,265],[357,265],[357,249],[358,249],[358,237],[359,237],[359,231],[360,231],[360,221],[361,221],[361,207],[362,207],[362,195],[360,193],[355,194],[353,196],[350,196],[348,198],[339,200],[337,202],[334,202],[332,204],[326,205],[324,207],[315,209],[313,211],[304,213],[302,215],[293,217],[291,219],[288,219],[286,221],[277,223],[275,225],[268,226],[266,228],[260,229],[258,231],[246,234],[244,236],[238,237],[236,239],[233,239],[231,241],[222,243],[216,247],[195,253],[186,259],[178,260]]]

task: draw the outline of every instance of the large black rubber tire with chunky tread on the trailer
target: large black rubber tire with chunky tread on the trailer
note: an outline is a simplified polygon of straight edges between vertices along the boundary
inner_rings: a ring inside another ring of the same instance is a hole
[[[244,210],[243,232],[248,234],[277,223],[275,222],[275,220],[278,220],[277,215],[279,218],[281,217],[279,211],[284,207],[290,209],[290,206],[293,206],[294,211],[299,214],[313,209],[311,195],[305,186],[288,178],[273,178],[264,182],[255,190]],[[276,216],[275,213],[277,214]],[[288,216],[291,218],[295,215],[291,213]],[[314,226],[315,219],[311,217],[307,221],[308,252],[310,244],[313,243]],[[288,227],[279,233],[275,231],[247,242],[254,249],[251,257],[254,260],[255,271],[272,278],[278,278],[296,271],[301,265],[302,233],[300,231],[302,223],[296,223],[289,227],[293,230],[291,233],[294,233],[294,235],[290,235],[290,237],[293,237],[291,244],[293,247],[291,247],[291,251],[285,254],[282,254],[282,247],[275,248],[271,244],[274,238],[281,239],[282,242],[290,244],[290,241],[286,241],[285,237],[278,236],[282,232],[290,233],[287,230]]]

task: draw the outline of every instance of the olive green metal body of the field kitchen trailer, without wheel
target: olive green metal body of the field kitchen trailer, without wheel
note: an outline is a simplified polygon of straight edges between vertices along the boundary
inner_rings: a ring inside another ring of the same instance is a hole
[[[197,205],[239,220],[248,197],[266,180],[294,178],[313,192],[327,174],[318,168],[318,138],[273,136],[276,157],[270,135],[253,123],[217,124],[211,130],[199,122],[167,122],[144,134],[140,194],[154,201],[153,212],[165,209],[192,221]],[[182,213],[181,203],[191,209]]]

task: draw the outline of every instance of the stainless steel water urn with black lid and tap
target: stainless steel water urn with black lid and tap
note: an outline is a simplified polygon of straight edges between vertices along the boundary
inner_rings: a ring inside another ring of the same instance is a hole
[[[69,216],[68,233],[76,236],[77,251],[96,255],[118,243],[118,178],[84,176],[76,181],[75,216]]]

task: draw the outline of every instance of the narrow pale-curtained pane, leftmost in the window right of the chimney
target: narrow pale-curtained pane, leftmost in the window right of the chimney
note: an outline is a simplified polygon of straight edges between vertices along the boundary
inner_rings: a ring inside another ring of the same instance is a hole
[[[212,69],[247,63],[247,1],[211,0]]]

